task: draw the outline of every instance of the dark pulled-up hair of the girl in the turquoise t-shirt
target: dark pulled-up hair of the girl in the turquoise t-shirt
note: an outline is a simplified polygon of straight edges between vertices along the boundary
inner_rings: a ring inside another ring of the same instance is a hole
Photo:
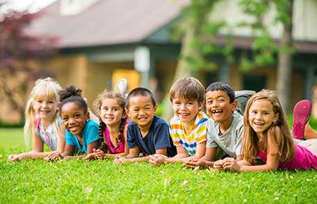
[[[65,103],[76,103],[79,105],[80,108],[83,108],[83,111],[86,113],[88,112],[88,105],[87,102],[81,96],[81,90],[76,89],[74,85],[67,86],[64,90],[59,92],[60,94],[60,105],[59,108],[62,110],[63,105]]]

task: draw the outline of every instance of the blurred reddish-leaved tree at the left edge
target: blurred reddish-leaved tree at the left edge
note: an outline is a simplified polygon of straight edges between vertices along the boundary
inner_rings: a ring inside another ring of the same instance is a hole
[[[32,36],[25,31],[39,15],[16,11],[0,15],[0,94],[19,112],[21,121],[24,121],[24,105],[35,78],[54,74],[31,66],[32,60],[42,60],[56,53],[56,37]]]

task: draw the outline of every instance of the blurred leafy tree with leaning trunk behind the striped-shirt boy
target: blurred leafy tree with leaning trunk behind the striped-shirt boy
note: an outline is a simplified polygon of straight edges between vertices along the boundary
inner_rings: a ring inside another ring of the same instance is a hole
[[[172,39],[181,39],[181,53],[173,82],[185,76],[196,78],[198,71],[202,69],[216,68],[215,63],[209,60],[208,56],[211,53],[223,51],[214,42],[214,35],[218,33],[223,24],[209,21],[209,14],[217,1],[192,0],[184,8],[181,22],[172,31]],[[208,37],[206,37],[207,34],[209,34]],[[165,119],[172,117],[168,94],[163,99],[163,117]]]

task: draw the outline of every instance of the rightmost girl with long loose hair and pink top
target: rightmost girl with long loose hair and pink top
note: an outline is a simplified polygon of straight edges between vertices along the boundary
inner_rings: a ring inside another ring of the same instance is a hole
[[[277,95],[270,90],[254,94],[244,115],[244,160],[226,158],[214,167],[231,171],[317,169],[317,139],[295,144]],[[255,165],[256,158],[264,164]]]

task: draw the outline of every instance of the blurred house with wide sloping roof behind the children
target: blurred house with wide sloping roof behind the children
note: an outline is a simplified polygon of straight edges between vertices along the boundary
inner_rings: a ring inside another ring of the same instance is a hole
[[[181,18],[185,0],[58,0],[42,10],[28,32],[59,38],[58,56],[45,62],[56,72],[61,85],[74,84],[83,90],[89,103],[118,78],[129,80],[129,90],[139,85],[157,91],[157,98],[168,92],[177,67],[181,44],[170,40],[169,30]],[[268,14],[272,19],[274,12]],[[230,24],[245,19],[237,0],[220,1],[211,20]],[[295,0],[293,37],[294,57],[291,107],[300,99],[311,99],[316,85],[317,1]],[[270,25],[278,39],[280,25]],[[226,33],[224,33],[226,34]],[[250,50],[252,31],[236,28],[233,43],[237,53]],[[225,38],[218,37],[219,44]],[[220,59],[221,60],[221,59]],[[221,63],[220,63],[221,64]],[[249,73],[238,65],[224,65],[214,71],[201,71],[200,80],[209,85],[225,80],[235,90],[275,90],[276,67],[257,67]],[[317,114],[317,113],[316,113]]]

